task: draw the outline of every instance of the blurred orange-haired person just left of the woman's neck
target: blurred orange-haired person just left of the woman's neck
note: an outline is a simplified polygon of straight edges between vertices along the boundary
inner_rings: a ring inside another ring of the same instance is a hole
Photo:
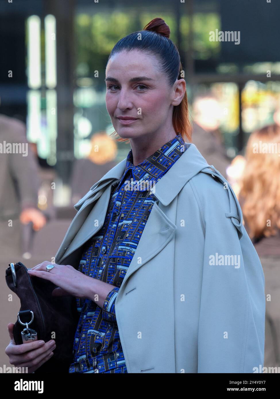
[[[91,137],[87,158],[76,159],[71,178],[71,202],[75,204],[88,192],[88,182],[94,184],[116,165],[117,144],[106,133]]]

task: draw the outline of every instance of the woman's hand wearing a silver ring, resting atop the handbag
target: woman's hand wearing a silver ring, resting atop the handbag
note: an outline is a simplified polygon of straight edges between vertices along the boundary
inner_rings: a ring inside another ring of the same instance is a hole
[[[47,265],[52,265],[54,268],[47,272]],[[48,261],[28,269],[28,273],[57,285],[59,288],[53,290],[53,296],[73,295],[76,298],[89,298],[90,286],[94,282],[91,277],[85,276],[70,265],[57,265]]]

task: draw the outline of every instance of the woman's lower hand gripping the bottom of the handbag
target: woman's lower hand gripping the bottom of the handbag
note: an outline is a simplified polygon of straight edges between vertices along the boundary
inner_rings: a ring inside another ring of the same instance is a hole
[[[13,328],[14,324],[9,323],[8,332],[11,340],[5,349],[5,353],[9,356],[11,364],[14,364],[16,367],[28,367],[28,373],[33,373],[33,371],[37,370],[52,357],[54,354],[52,351],[56,348],[55,341],[50,340],[46,343],[44,341],[33,341],[27,344],[16,345]],[[40,344],[40,342],[43,342],[43,344]]]

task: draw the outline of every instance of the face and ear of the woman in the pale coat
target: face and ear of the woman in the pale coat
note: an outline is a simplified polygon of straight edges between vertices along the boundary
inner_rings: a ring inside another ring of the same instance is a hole
[[[166,121],[172,121],[173,105],[181,102],[185,91],[175,90],[178,81],[169,87],[166,75],[157,65],[153,55],[137,50],[121,51],[109,59],[105,79],[106,108],[121,138],[143,137],[162,130]]]

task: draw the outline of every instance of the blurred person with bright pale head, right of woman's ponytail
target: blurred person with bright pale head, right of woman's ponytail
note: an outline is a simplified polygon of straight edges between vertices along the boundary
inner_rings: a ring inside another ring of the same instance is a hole
[[[195,124],[191,142],[197,146],[209,165],[213,165],[226,178],[226,168],[230,161],[223,145],[222,134],[218,129],[221,122],[221,109],[217,99],[211,93],[195,97],[193,119]]]

